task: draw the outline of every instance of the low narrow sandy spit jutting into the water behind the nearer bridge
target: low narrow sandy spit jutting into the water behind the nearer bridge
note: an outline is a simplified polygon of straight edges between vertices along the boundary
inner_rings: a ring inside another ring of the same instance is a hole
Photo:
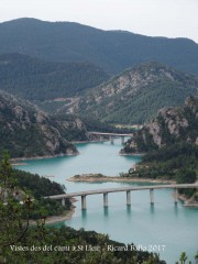
[[[168,179],[150,179],[150,178],[129,178],[129,177],[120,177],[120,176],[103,176],[103,177],[91,177],[91,176],[79,176],[79,177],[70,177],[66,179],[68,182],[76,182],[76,183],[151,183],[151,184],[176,184],[175,180]]]

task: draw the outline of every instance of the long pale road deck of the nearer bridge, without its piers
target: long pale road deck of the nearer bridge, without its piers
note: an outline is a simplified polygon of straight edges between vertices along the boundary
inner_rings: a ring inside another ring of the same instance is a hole
[[[62,199],[62,198],[72,198],[77,196],[87,196],[87,195],[97,195],[97,194],[107,194],[107,193],[120,193],[128,190],[145,190],[145,189],[187,189],[187,188],[198,188],[198,184],[180,184],[180,185],[147,185],[147,186],[135,186],[135,187],[121,187],[121,188],[109,188],[109,189],[98,189],[98,190],[86,190],[78,193],[70,193],[56,196],[47,196],[45,198],[51,199]]]

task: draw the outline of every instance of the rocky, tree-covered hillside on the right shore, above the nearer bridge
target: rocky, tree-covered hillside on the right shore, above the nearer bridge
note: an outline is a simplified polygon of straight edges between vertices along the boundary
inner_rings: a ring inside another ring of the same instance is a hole
[[[122,154],[145,155],[127,177],[172,179],[193,184],[198,179],[198,97],[189,97],[180,108],[162,109],[158,116],[140,131],[134,132]],[[198,204],[198,193],[182,190]]]

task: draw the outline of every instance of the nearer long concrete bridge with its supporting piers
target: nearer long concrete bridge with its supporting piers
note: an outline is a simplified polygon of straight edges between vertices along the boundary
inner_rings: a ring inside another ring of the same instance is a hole
[[[150,186],[135,186],[135,187],[121,187],[121,188],[108,188],[108,189],[98,189],[98,190],[86,190],[78,193],[70,193],[56,196],[47,196],[44,198],[62,200],[62,205],[65,206],[65,198],[81,197],[81,209],[86,209],[86,197],[88,195],[103,195],[103,207],[108,207],[108,194],[110,193],[120,193],[125,191],[127,194],[127,205],[131,206],[131,191],[134,190],[150,190],[150,201],[151,205],[154,205],[154,189],[174,189],[174,200],[178,201],[178,189],[189,189],[198,188],[198,184],[180,184],[180,185],[150,185]]]

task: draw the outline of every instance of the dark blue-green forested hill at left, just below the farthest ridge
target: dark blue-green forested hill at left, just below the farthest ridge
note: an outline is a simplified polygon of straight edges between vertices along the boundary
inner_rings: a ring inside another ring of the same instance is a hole
[[[0,89],[29,100],[76,96],[108,78],[89,63],[52,63],[20,53],[0,55]]]

